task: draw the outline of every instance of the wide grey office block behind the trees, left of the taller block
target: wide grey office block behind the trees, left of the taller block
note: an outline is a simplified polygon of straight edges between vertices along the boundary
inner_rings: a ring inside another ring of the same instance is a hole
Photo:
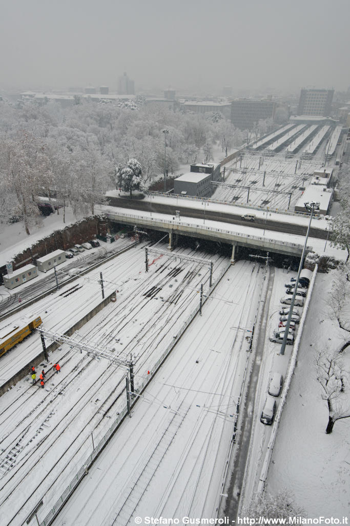
[[[261,119],[273,119],[275,110],[276,103],[270,100],[232,100],[231,123],[242,130],[252,129]]]

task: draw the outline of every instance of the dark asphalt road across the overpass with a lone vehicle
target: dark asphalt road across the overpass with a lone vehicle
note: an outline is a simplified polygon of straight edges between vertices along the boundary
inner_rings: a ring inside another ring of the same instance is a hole
[[[151,214],[151,203],[150,201],[144,201],[139,199],[127,199],[122,197],[109,197],[109,205],[116,206],[120,208],[129,208],[134,210],[143,210]],[[203,207],[204,208],[204,207]],[[271,219],[259,219],[256,218],[252,222],[247,222],[241,219],[241,216],[238,214],[230,214],[221,212],[211,211],[209,207],[206,207],[205,216],[204,210],[197,210],[196,208],[184,207],[181,205],[176,206],[176,210],[180,211],[181,215],[187,217],[196,217],[201,220],[210,219],[211,221],[225,221],[227,223],[232,223],[234,225],[249,225],[254,228],[267,229],[270,231],[276,232],[287,232],[288,234],[296,234],[300,236],[305,236],[307,227],[302,225],[292,225],[287,222],[282,221],[272,221]],[[159,214],[170,214],[175,217],[175,207],[173,205],[166,205],[163,203],[154,203],[152,201],[152,212],[157,212]],[[319,228],[310,229],[310,237],[326,239],[327,231],[321,230]]]

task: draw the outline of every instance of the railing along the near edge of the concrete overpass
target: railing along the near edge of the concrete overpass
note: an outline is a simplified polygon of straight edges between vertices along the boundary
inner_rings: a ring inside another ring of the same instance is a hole
[[[302,251],[303,249],[303,246],[302,245],[299,245],[298,243],[289,243],[289,242],[285,242],[285,241],[278,241],[278,240],[275,240],[275,239],[269,239],[269,238],[266,238],[266,237],[259,237],[259,236],[252,236],[250,234],[241,234],[241,232],[232,232],[231,230],[224,230],[222,228],[213,228],[213,227],[208,227],[208,226],[205,226],[205,225],[195,225],[193,223],[187,223],[187,222],[184,222],[184,221],[181,221],[181,220],[176,220],[174,219],[173,221],[170,220],[170,219],[159,219],[159,218],[154,218],[154,217],[150,217],[150,216],[137,216],[135,214],[116,214],[115,212],[111,212],[110,210],[106,210],[105,211],[105,214],[108,216],[108,218],[114,218],[115,220],[122,220],[124,217],[129,217],[129,218],[132,218],[132,219],[142,219],[143,221],[152,221],[152,223],[154,223],[155,225],[157,223],[159,224],[168,224],[168,225],[172,225],[173,227],[174,226],[185,226],[185,227],[192,227],[192,228],[200,228],[201,230],[206,230],[206,231],[211,231],[211,232],[220,232],[221,234],[228,234],[230,236],[237,236],[237,237],[241,237],[243,239],[253,239],[253,240],[256,240],[256,241],[265,241],[265,242],[268,242],[268,243],[272,243],[274,245],[280,245],[280,246],[284,246],[284,247],[291,247],[291,248],[297,248],[297,249],[300,249]],[[312,250],[312,247],[306,247],[309,251]]]

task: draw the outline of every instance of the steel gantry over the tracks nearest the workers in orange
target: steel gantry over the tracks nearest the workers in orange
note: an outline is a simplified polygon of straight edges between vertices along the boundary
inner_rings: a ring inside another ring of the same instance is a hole
[[[130,395],[133,397],[134,393],[134,365],[132,362],[132,357],[130,360],[126,358],[120,358],[115,356],[113,350],[106,350],[104,347],[99,345],[89,345],[89,343],[84,342],[83,340],[78,340],[77,338],[72,338],[61,334],[60,332],[55,332],[50,329],[45,329],[44,327],[38,327],[37,330],[40,332],[41,343],[43,344],[43,350],[46,360],[48,361],[47,349],[45,345],[45,338],[53,342],[67,343],[71,347],[75,347],[80,350],[80,352],[85,351],[89,355],[92,355],[96,358],[104,358],[109,360],[111,363],[114,363],[116,366],[120,366],[125,370],[125,380],[126,380],[126,405],[128,407],[128,414],[131,417],[131,406],[130,406]],[[130,373],[130,381],[128,377],[128,372]]]

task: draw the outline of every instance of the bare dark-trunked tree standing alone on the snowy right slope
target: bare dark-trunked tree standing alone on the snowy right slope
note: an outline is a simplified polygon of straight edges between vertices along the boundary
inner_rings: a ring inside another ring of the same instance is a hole
[[[327,402],[326,433],[330,434],[337,420],[350,417],[347,397],[348,373],[344,369],[342,355],[338,351],[326,348],[316,351],[315,365],[322,399]]]

